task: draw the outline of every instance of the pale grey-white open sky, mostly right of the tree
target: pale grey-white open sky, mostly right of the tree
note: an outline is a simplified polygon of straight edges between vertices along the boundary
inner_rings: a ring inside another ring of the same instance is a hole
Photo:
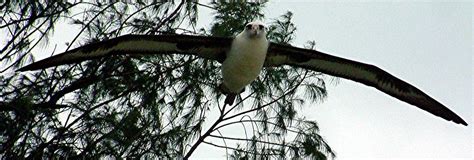
[[[295,46],[376,65],[418,87],[467,121],[461,126],[392,98],[374,88],[340,79],[328,83],[328,98],[299,110],[345,159],[471,159],[474,97],[473,3],[271,1],[270,22],[292,11]],[[213,11],[199,8],[200,27]],[[51,38],[65,48],[67,23]],[[50,45],[53,46],[53,45]],[[41,50],[49,51],[43,48]],[[64,49],[63,49],[64,50]],[[50,54],[36,55],[37,60]],[[208,121],[212,121],[212,116]],[[202,144],[192,159],[223,159],[225,151]]]

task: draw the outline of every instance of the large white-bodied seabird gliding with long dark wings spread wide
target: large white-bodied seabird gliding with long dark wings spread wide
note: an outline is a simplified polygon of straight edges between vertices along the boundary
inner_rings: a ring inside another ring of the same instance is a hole
[[[435,116],[467,126],[461,117],[446,106],[377,66],[317,50],[268,42],[260,25],[258,22],[249,23],[235,39],[195,35],[124,35],[54,55],[19,71],[45,69],[111,55],[195,55],[223,62],[223,83],[220,88],[227,95],[225,103],[232,104],[235,95],[260,73],[262,63],[263,67],[289,65],[374,87]]]

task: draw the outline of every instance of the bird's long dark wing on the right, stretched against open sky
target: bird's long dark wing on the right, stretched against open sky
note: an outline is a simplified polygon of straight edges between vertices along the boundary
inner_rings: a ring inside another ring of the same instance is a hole
[[[377,66],[360,63],[316,50],[271,44],[266,65],[286,64],[350,79],[412,104],[448,121],[467,126],[456,113],[439,103],[415,86],[391,75]]]

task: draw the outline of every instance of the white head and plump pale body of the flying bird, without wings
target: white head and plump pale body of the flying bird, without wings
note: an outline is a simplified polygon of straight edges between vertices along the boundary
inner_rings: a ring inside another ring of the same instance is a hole
[[[262,70],[269,43],[261,26],[263,24],[259,22],[249,23],[232,41],[222,64],[221,89],[227,95],[225,102],[229,105]]]

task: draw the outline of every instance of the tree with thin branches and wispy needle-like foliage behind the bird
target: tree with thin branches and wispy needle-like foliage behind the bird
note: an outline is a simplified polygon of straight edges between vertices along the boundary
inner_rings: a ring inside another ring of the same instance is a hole
[[[215,10],[210,30],[196,29],[200,7]],[[184,1],[5,3],[0,29],[9,39],[1,52],[6,67],[0,77],[0,154],[188,158],[200,145],[211,145],[235,159],[335,157],[316,122],[299,117],[296,110],[306,99],[326,96],[317,72],[266,68],[235,106],[224,108],[217,89],[220,64],[195,56],[114,56],[28,74],[12,71],[31,62],[36,47],[31,42],[47,43],[57,23],[82,28],[68,42],[69,49],[83,44],[80,39],[90,43],[128,33],[233,36],[246,22],[263,19],[263,7]],[[291,18],[288,12],[273,19],[269,39],[291,43],[296,30]],[[232,126],[242,126],[245,134],[224,134]]]

